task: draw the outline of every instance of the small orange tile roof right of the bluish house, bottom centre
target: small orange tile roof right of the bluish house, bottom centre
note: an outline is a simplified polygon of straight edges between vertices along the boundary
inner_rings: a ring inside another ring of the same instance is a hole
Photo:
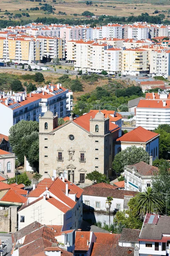
[[[74,250],[82,250],[88,251],[90,242],[90,231],[77,231],[75,237],[75,249]]]

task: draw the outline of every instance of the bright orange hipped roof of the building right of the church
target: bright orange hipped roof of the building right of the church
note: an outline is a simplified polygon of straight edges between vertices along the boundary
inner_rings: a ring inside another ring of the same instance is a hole
[[[134,130],[127,132],[123,136],[119,137],[116,141],[125,141],[125,142],[147,142],[157,137],[159,134],[148,131],[142,126],[135,128]]]

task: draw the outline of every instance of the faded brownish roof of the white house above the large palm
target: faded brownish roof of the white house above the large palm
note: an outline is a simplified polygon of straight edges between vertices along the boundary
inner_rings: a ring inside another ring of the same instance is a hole
[[[135,163],[135,164],[129,165],[127,167],[130,169],[134,168],[136,172],[138,172],[140,175],[144,175],[144,176],[153,176],[155,172],[158,172],[158,167],[150,166],[149,164],[144,163],[144,162]],[[125,168],[126,168],[126,166],[125,166]]]

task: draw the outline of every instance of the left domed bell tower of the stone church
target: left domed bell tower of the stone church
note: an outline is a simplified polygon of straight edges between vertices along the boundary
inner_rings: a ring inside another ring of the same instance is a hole
[[[39,117],[39,132],[49,133],[58,126],[58,116],[53,115],[53,113],[48,110],[45,112],[44,116]]]

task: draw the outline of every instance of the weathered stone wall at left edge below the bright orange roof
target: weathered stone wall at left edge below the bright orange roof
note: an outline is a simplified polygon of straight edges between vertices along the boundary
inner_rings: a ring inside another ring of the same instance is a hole
[[[0,232],[17,231],[17,207],[12,206],[6,210],[0,210]]]

